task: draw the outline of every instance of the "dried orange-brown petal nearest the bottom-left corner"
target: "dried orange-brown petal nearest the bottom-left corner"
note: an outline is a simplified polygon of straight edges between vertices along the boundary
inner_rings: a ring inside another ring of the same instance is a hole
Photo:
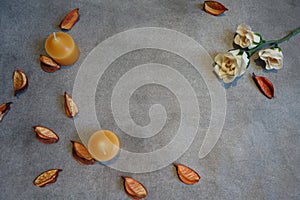
[[[61,169],[50,169],[41,173],[33,181],[33,184],[38,187],[44,187],[50,183],[54,183],[58,177],[58,173],[62,171]]]

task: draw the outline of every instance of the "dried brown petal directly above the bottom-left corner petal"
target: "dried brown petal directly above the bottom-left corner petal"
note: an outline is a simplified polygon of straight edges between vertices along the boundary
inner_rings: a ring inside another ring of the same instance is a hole
[[[44,144],[52,144],[58,142],[57,134],[49,128],[43,126],[34,126],[34,132],[37,139]]]

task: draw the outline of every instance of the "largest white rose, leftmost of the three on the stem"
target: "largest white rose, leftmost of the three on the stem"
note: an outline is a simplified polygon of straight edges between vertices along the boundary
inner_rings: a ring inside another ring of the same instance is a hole
[[[224,83],[232,82],[236,77],[245,73],[249,63],[248,55],[239,49],[219,53],[215,57],[214,71]]]

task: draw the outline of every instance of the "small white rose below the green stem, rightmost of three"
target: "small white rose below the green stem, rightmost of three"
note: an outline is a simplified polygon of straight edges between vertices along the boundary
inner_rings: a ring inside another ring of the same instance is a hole
[[[267,70],[282,68],[283,54],[280,48],[262,49],[258,55],[265,61]]]

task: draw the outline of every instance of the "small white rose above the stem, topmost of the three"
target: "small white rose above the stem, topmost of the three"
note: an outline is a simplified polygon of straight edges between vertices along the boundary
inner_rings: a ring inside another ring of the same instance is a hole
[[[240,24],[236,30],[236,36],[234,37],[234,43],[242,48],[252,49],[256,47],[261,40],[258,33],[251,31],[250,26],[245,24]]]

